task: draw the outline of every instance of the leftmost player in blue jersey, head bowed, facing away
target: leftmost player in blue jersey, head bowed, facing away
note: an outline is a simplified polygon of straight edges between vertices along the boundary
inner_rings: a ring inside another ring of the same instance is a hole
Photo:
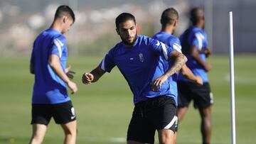
[[[30,72],[35,74],[32,97],[33,134],[31,144],[42,143],[50,119],[60,124],[65,133],[65,144],[75,144],[77,122],[75,109],[68,96],[78,91],[70,67],[65,68],[68,50],[65,36],[75,22],[69,6],[59,6],[50,28],[43,31],[33,43]],[[69,79],[70,78],[70,79]]]

